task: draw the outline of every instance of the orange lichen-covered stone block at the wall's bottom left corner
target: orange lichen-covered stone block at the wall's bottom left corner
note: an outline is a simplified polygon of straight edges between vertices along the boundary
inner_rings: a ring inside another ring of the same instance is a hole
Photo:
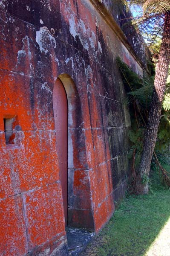
[[[28,245],[20,195],[0,201],[1,255],[26,255]],[[17,238],[17,239],[16,239]]]

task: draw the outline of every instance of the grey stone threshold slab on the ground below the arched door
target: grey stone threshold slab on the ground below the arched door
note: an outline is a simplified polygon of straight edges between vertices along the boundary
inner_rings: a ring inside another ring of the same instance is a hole
[[[66,235],[69,256],[78,256],[95,237],[95,232],[81,228],[66,227]]]

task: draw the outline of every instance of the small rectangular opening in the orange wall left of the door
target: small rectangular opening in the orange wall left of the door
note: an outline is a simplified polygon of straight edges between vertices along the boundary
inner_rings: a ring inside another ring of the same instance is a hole
[[[14,118],[3,119],[6,144],[14,144],[13,122]]]

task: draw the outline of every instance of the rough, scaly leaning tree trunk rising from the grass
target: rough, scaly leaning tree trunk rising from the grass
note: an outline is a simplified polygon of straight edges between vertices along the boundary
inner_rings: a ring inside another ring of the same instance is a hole
[[[158,63],[156,65],[153,97],[150,107],[147,131],[144,138],[144,149],[142,152],[141,162],[138,168],[138,176],[136,180],[136,190],[138,194],[147,194],[148,192],[147,178],[150,172],[150,164],[157,138],[158,125],[161,117],[161,108],[164,99],[169,65],[170,11],[166,12],[164,18],[164,32],[158,57]]]

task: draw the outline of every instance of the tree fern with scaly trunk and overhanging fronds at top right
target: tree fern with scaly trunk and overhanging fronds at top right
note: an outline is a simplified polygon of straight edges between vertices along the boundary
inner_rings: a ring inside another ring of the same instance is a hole
[[[134,99],[133,104],[133,112],[136,122],[138,123],[138,128],[140,128],[142,123],[138,121],[138,113],[140,114],[140,121],[143,121],[143,126],[147,128],[144,135],[144,148],[136,179],[137,193],[145,194],[148,192],[149,186],[148,183],[143,184],[142,179],[144,175],[148,177],[150,172],[150,163],[156,144],[159,120],[161,118],[161,108],[166,90],[168,67],[170,65],[170,0],[129,0],[129,2],[141,5],[143,8],[141,18],[135,19],[139,32],[143,30],[147,35],[153,35],[153,37],[150,37],[150,43],[152,43],[157,36],[161,37],[161,47],[158,53],[154,90],[149,112],[140,108],[140,104],[138,104],[139,99]],[[130,87],[132,86],[130,85]]]

